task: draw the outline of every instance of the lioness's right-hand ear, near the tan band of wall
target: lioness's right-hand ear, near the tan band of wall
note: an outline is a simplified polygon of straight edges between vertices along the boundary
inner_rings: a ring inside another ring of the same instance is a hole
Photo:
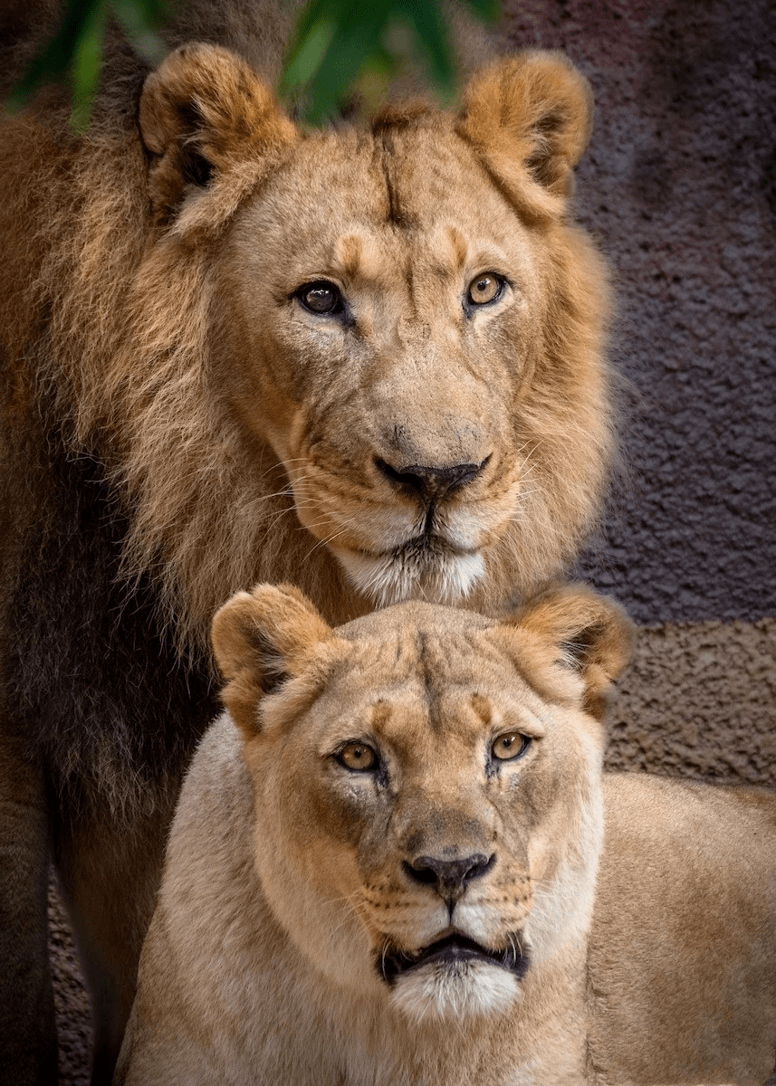
[[[581,678],[584,708],[601,719],[609,687],[633,651],[634,626],[619,604],[570,584],[530,601],[512,621],[533,634],[546,666],[560,665]]]

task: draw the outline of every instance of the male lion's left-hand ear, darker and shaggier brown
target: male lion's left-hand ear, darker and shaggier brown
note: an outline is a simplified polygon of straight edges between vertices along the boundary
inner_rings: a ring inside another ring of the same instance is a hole
[[[176,49],[148,76],[138,123],[153,156],[151,201],[162,222],[174,217],[188,193],[214,180],[230,179],[222,203],[234,203],[297,137],[272,91],[245,61],[199,43]]]

